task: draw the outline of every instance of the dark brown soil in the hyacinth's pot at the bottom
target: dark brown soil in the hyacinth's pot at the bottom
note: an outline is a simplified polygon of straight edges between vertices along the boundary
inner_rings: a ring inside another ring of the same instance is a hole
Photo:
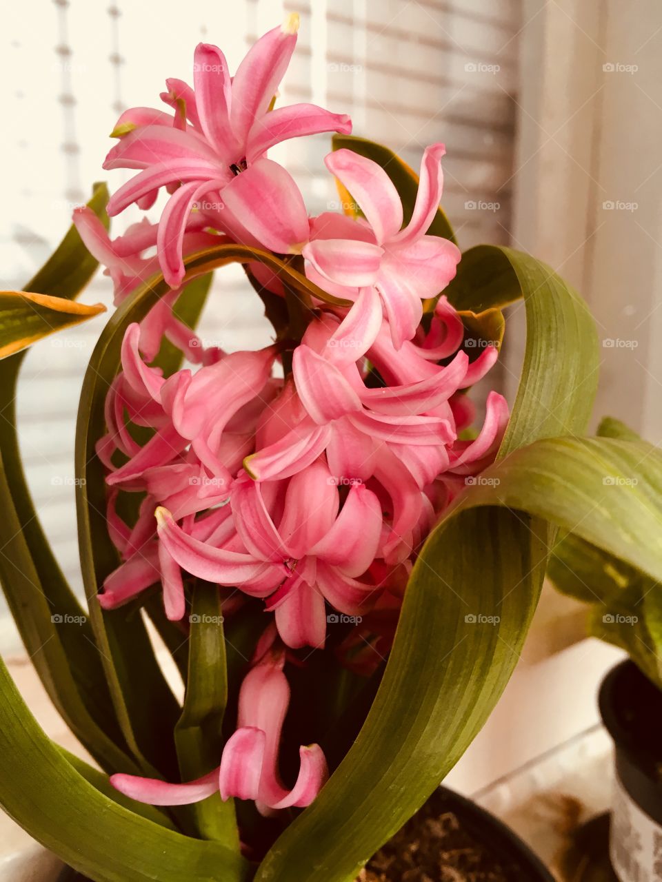
[[[535,882],[508,850],[486,845],[477,819],[463,817],[462,807],[439,793],[368,861],[357,882]]]

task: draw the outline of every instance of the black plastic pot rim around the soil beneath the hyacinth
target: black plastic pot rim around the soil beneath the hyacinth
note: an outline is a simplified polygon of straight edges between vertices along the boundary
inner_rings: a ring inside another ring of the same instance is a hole
[[[426,812],[427,817],[454,815],[463,831],[479,843],[486,854],[504,868],[508,867],[508,882],[553,882],[551,873],[508,826],[453,790],[437,789],[421,812]],[[418,814],[408,821],[402,832],[408,833],[415,827],[417,818]]]

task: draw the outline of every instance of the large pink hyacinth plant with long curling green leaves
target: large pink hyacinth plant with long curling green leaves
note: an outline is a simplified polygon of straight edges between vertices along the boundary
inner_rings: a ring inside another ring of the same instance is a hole
[[[418,178],[346,116],[274,108],[296,32],[290,16],[234,78],[200,45],[193,88],[168,80],[166,110],[125,111],[104,166],[137,174],[107,212],[97,186],[27,293],[0,300],[0,579],[96,763],[49,741],[0,666],[0,804],[96,882],[389,878],[389,854],[442,815],[491,871],[545,879],[466,802],[426,801],[508,682],[556,527],[658,579],[658,501],[626,481],[639,442],[580,437],[598,368],[581,298],[521,252],[461,256],[443,146]],[[347,213],[309,218],[265,153],[320,131],[336,132],[326,164]],[[163,189],[156,222],[109,237],[108,215],[153,210]],[[76,430],[83,608],[27,492],[13,402],[19,350],[96,310],[75,298],[97,260],[117,310]],[[228,354],[194,331],[229,263],[262,298],[267,348]],[[518,299],[514,407],[490,392],[473,431],[466,391]],[[623,480],[596,508],[606,463]],[[440,862],[439,878],[463,872]]]

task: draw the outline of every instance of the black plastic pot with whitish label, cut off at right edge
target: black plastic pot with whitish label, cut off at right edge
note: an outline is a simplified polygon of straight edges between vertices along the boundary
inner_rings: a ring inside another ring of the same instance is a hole
[[[599,691],[615,746],[610,857],[621,882],[662,874],[662,691],[634,662],[621,662]]]

